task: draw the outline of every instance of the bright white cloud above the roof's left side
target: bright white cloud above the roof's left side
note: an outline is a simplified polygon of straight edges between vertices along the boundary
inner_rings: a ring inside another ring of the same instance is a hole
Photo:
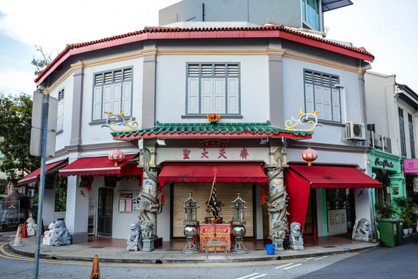
[[[178,0],[0,0],[0,14],[3,14],[0,32],[30,45],[42,46],[55,56],[69,43],[155,26],[158,10],[176,2]]]

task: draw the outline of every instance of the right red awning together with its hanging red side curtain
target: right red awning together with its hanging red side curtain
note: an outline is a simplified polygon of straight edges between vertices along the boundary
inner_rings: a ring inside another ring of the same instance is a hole
[[[285,169],[284,184],[289,197],[289,223],[304,227],[311,188],[381,188],[382,183],[355,167],[291,165]]]

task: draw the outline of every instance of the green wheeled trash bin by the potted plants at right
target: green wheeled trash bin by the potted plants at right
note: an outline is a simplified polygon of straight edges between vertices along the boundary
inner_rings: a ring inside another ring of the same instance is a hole
[[[379,218],[376,220],[379,226],[380,240],[385,246],[395,247],[403,244],[401,218]]]

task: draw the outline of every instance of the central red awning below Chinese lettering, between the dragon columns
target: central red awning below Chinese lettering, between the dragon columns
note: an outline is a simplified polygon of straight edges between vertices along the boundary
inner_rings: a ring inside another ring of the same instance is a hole
[[[212,182],[213,169],[217,169],[216,181],[228,182],[268,182],[260,163],[187,163],[167,164],[158,176],[159,182]]]

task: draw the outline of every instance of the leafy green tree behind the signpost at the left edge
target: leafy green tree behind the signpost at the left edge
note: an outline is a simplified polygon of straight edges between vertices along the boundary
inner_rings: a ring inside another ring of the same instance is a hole
[[[40,166],[40,158],[29,155],[31,144],[32,100],[0,93],[0,151],[6,160],[0,165],[13,183]]]

